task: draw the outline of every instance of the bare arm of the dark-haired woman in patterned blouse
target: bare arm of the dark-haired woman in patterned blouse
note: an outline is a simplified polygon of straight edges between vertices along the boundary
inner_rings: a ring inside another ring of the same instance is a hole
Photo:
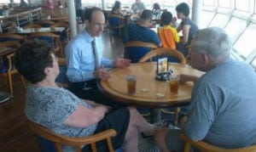
[[[67,117],[64,124],[71,127],[89,127],[101,121],[109,109],[108,106],[102,104],[96,104],[93,109],[79,105],[73,114]]]

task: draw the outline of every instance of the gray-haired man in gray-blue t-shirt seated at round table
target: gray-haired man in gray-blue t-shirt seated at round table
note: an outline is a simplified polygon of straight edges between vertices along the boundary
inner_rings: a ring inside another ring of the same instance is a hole
[[[191,65],[206,73],[199,78],[181,75],[182,82],[195,82],[190,109],[181,130],[155,132],[162,151],[183,151],[181,132],[194,141],[226,149],[256,144],[256,74],[250,65],[231,59],[231,50],[230,37],[222,28],[195,34],[189,52]]]

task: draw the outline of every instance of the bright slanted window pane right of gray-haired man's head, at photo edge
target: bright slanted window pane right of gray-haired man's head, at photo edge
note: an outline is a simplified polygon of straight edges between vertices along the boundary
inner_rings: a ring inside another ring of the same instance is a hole
[[[238,41],[235,43],[233,48],[236,52],[240,53],[241,56],[246,59],[247,56],[255,48],[255,39],[256,39],[256,25],[250,24],[246,31],[244,31],[239,37]]]

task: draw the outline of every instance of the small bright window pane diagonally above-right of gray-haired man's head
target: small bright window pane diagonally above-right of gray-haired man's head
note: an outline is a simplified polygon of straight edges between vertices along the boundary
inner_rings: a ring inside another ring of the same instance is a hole
[[[241,32],[244,31],[247,27],[247,20],[241,20],[233,17],[228,25],[225,26],[225,31],[229,34],[232,39],[232,42],[236,42],[237,38],[241,35]]]

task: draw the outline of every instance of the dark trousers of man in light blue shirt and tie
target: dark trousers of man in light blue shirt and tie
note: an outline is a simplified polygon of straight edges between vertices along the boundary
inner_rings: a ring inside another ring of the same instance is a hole
[[[108,97],[104,96],[96,85],[96,80],[87,82],[73,82],[70,84],[69,90],[77,95],[80,99],[89,99],[98,104],[105,104],[111,106],[113,109],[123,107],[123,104],[114,102]]]

